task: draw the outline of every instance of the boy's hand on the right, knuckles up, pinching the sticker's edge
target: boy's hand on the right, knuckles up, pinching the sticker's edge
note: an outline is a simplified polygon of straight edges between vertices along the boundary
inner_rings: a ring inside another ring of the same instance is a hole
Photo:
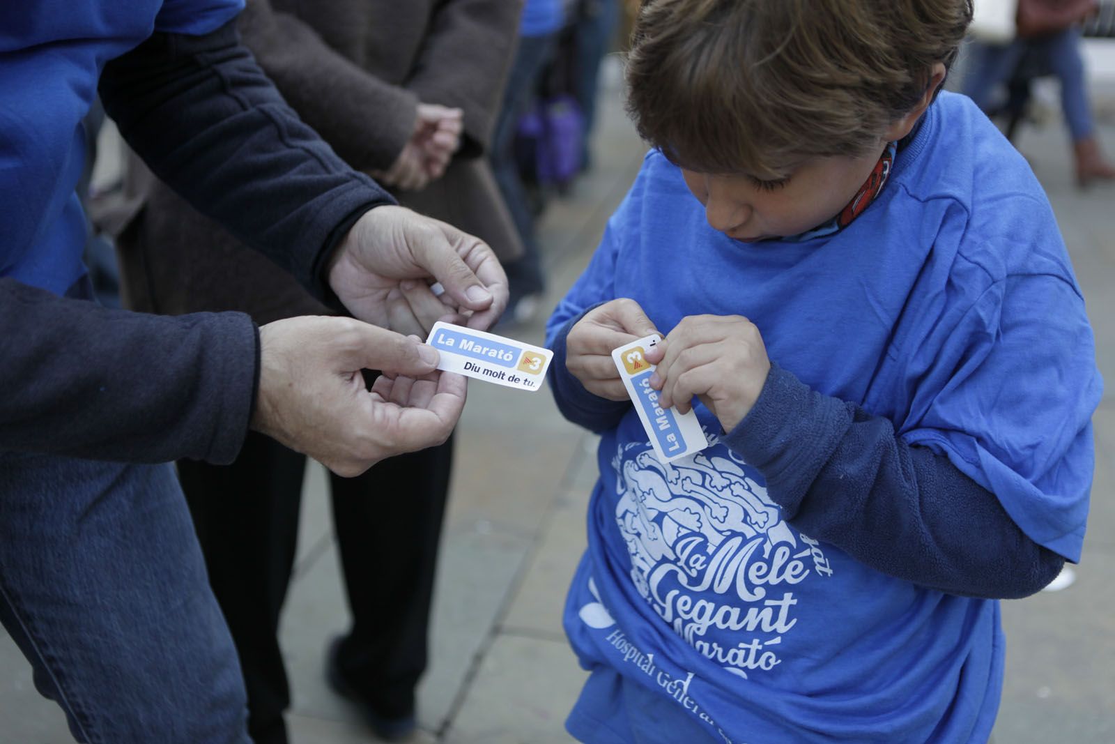
[[[770,371],[759,329],[741,316],[682,318],[647,360],[657,365],[650,386],[660,406],[686,413],[696,395],[725,432],[752,409]]]

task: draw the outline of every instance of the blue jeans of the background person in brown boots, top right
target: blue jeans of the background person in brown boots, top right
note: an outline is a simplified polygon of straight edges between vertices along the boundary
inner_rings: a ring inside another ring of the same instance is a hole
[[[1045,57],[1050,71],[1060,80],[1060,106],[1073,142],[1092,136],[1092,110],[1078,27],[1037,39],[1015,39],[1007,45],[972,41],[968,48],[964,95],[987,112],[996,87],[1010,79],[1028,46],[1035,47]]]

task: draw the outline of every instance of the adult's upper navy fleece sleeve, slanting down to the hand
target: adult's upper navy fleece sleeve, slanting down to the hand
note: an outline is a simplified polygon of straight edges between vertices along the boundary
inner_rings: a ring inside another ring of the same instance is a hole
[[[334,303],[323,277],[333,248],[363,212],[394,201],[298,118],[234,22],[153,35],[105,66],[100,95],[161,180]]]

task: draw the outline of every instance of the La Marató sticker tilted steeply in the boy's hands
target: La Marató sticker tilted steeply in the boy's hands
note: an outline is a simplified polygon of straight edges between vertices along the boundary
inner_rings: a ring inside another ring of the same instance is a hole
[[[658,336],[640,338],[614,349],[612,360],[655,453],[662,462],[672,462],[706,448],[708,439],[691,408],[686,414],[679,414],[676,408],[662,408],[658,404],[658,390],[650,386],[655,365],[647,361],[647,350],[660,342]]]

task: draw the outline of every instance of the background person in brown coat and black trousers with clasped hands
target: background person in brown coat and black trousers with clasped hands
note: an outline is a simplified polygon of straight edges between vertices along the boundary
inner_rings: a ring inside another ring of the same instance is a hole
[[[401,204],[482,238],[506,261],[522,247],[485,154],[520,10],[514,0],[249,0],[239,30],[301,118],[352,167]],[[136,158],[123,200],[104,221],[116,234],[133,308],[240,310],[259,323],[329,313]],[[417,317],[398,320],[425,338]],[[384,461],[356,479],[330,476],[352,624],[326,651],[327,676],[385,740],[416,726],[452,446]],[[290,693],[277,634],[304,466],[303,455],[255,433],[230,466],[178,463],[240,654],[258,744],[288,741]]]

